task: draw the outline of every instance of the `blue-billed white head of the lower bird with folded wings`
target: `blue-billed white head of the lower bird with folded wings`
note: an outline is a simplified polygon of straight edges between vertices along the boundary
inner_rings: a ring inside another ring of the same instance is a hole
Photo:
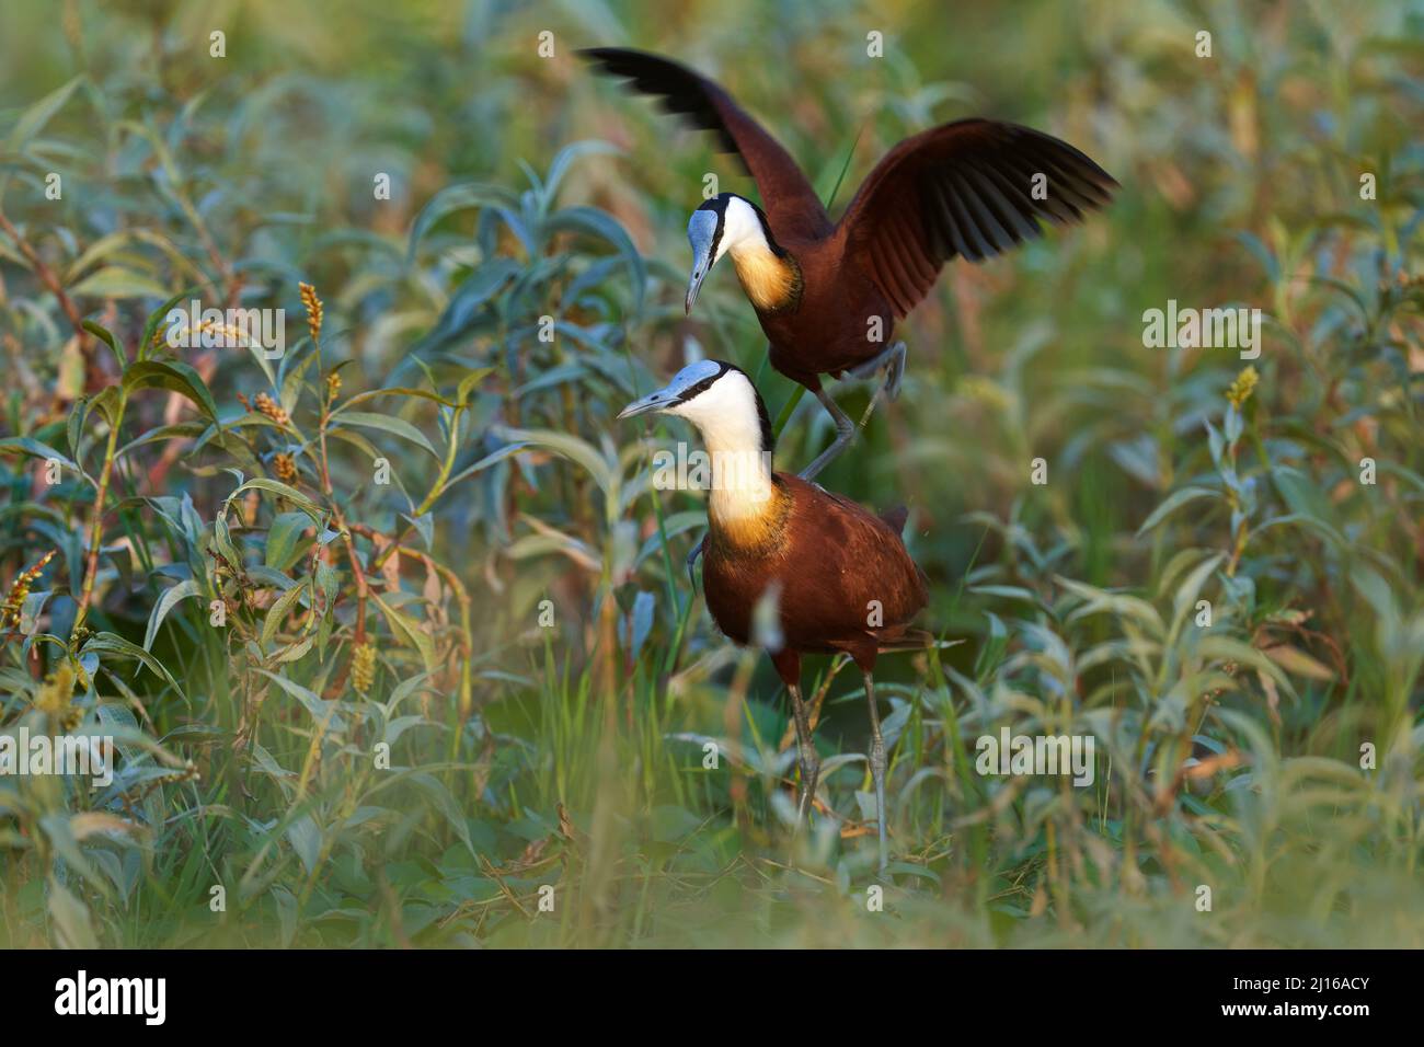
[[[618,417],[676,415],[695,424],[709,450],[770,453],[775,446],[766,403],[746,372],[722,360],[698,360],[662,389],[634,400]]]

